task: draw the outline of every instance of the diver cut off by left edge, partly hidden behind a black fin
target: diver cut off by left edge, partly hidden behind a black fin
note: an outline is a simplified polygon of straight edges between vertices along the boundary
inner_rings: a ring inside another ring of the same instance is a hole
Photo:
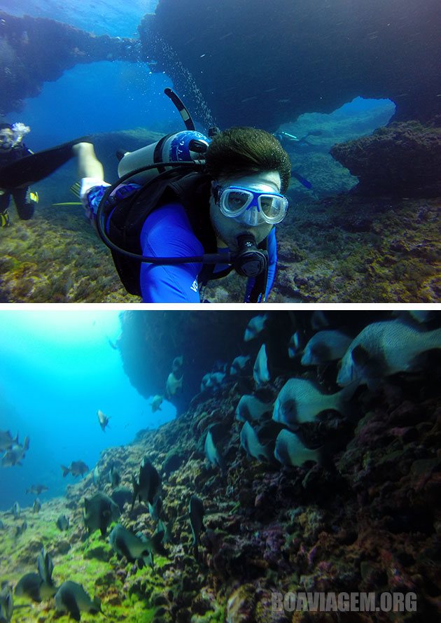
[[[11,162],[16,162],[31,155],[31,150],[23,143],[23,137],[29,132],[29,127],[23,123],[0,123],[0,169]],[[0,227],[8,227],[8,207],[10,197],[13,197],[18,216],[28,221],[34,214],[38,202],[37,193],[32,193],[29,186],[25,188],[0,188]]]

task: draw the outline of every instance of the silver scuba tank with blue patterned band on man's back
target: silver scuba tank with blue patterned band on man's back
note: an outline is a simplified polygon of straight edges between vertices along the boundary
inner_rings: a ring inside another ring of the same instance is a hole
[[[143,168],[143,171],[131,176],[130,181],[145,184],[153,180],[158,174],[170,170],[179,162],[193,161],[198,164],[203,160],[209,143],[209,138],[195,130],[183,130],[182,132],[167,134],[157,143],[125,153],[118,165],[118,176],[123,177],[132,171]],[[167,167],[168,162],[172,163],[170,167]],[[154,165],[158,165],[158,167]]]

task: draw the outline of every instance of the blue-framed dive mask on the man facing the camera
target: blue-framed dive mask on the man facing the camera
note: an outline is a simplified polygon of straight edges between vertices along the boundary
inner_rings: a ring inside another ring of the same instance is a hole
[[[279,193],[252,190],[243,186],[212,186],[221,213],[246,225],[280,223],[288,211],[288,199]]]

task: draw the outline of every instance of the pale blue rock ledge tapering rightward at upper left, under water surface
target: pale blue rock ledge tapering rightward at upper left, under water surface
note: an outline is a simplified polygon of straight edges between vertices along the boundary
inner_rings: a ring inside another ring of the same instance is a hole
[[[0,11],[0,114],[20,110],[22,99],[38,95],[64,70],[102,60],[137,62],[139,42]]]

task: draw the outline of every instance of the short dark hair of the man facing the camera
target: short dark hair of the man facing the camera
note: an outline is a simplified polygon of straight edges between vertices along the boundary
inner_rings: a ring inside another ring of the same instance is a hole
[[[230,127],[211,141],[206,155],[207,171],[213,179],[247,173],[278,171],[281,192],[291,176],[289,156],[279,141],[255,127]]]

